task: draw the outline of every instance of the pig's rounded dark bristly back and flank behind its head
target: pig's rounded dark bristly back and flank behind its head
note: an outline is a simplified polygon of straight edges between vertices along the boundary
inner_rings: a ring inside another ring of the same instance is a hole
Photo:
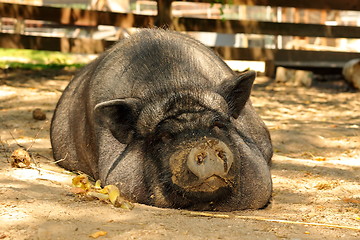
[[[67,169],[96,178],[96,104],[128,97],[161,97],[179,89],[212,88],[233,74],[212,50],[186,35],[141,30],[83,68],[64,90],[51,125],[54,158],[65,159],[59,164]]]

